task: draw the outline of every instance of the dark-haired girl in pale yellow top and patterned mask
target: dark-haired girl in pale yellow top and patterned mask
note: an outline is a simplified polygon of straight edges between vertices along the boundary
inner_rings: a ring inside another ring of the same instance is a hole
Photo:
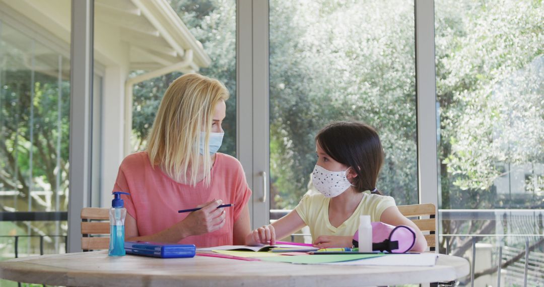
[[[255,229],[246,236],[246,244],[274,245],[277,238],[308,226],[315,247],[351,247],[359,216],[370,215],[371,221],[412,227],[416,232],[412,251],[425,251],[421,230],[400,214],[392,197],[381,195],[376,188],[384,151],[372,127],[358,122],[331,123],[317,134],[316,153],[312,183],[319,194],[305,196],[282,219]]]

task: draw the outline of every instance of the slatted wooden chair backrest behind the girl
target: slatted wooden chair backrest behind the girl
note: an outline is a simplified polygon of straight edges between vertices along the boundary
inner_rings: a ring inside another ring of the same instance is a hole
[[[430,251],[435,251],[436,241],[436,205],[432,203],[412,204],[412,205],[398,205],[399,211],[404,216],[408,217],[416,223],[419,230],[425,233],[425,240],[427,240],[427,246]],[[429,219],[421,219],[421,216],[429,216]],[[413,218],[415,217],[415,218]]]

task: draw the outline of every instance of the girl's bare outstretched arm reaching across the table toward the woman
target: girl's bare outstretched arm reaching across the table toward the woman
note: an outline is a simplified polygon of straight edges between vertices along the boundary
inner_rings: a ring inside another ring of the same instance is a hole
[[[305,227],[306,223],[302,221],[296,210],[291,211],[288,215],[275,221],[270,225],[259,227],[245,238],[246,245],[275,245],[277,238],[284,238],[287,235],[293,234],[296,230]]]

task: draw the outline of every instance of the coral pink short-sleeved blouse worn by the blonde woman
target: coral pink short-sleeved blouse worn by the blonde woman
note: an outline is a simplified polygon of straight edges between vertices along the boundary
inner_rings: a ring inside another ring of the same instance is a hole
[[[178,242],[194,244],[197,247],[232,245],[233,224],[251,196],[240,162],[222,153],[217,153],[215,157],[208,187],[204,180],[196,186],[177,183],[158,166],[151,165],[147,152],[130,154],[119,167],[113,191],[131,194],[122,195],[122,198],[127,213],[137,221],[139,236],[151,235],[169,228],[189,215],[178,213],[178,210],[195,208],[214,198],[222,199],[223,204],[236,203],[234,207],[224,208],[226,222],[221,229],[189,236]]]

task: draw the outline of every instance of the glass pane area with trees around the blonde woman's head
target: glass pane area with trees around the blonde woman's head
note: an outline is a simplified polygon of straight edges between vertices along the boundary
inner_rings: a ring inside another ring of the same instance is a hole
[[[208,66],[200,67],[197,72],[219,79],[230,91],[223,123],[225,138],[219,152],[236,157],[236,1],[168,0],[168,3],[211,59]],[[170,83],[182,73],[192,71],[196,70],[187,68],[185,71],[164,74],[134,85],[133,151],[145,148],[145,138]],[[131,77],[142,73],[144,70],[137,68],[131,73]]]

